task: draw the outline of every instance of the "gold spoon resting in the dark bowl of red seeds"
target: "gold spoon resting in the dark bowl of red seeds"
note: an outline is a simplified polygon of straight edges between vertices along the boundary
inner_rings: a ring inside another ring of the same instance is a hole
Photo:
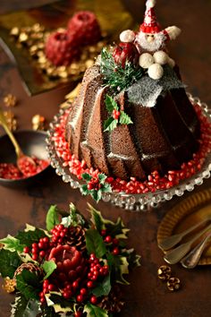
[[[15,137],[13,136],[13,133],[11,132],[5,117],[4,117],[4,113],[2,111],[2,109],[0,108],[0,124],[2,124],[2,126],[4,127],[5,132],[7,133],[7,135],[9,136],[10,140],[13,143],[13,147],[15,150],[15,153],[17,155],[17,167],[20,169],[21,173],[25,176],[26,175],[26,170],[24,167],[24,162],[27,162],[28,165],[31,166],[36,166],[35,161],[33,159],[31,159],[29,156],[25,155],[23,153],[23,151],[21,150],[21,147],[19,145],[19,143],[16,141]],[[27,174],[28,176],[28,174]]]

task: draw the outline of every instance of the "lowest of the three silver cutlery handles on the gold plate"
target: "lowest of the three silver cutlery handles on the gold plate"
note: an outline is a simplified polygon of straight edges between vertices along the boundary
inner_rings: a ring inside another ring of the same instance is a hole
[[[195,246],[195,248],[190,251],[190,253],[188,253],[185,258],[181,260],[181,265],[185,269],[193,269],[197,266],[201,254],[206,249],[207,245],[211,243],[210,237],[211,232],[205,236],[205,238],[199,244],[197,244],[197,246]]]

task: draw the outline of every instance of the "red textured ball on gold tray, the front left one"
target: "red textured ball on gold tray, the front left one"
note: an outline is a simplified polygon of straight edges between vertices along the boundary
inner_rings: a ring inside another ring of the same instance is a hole
[[[46,39],[46,58],[55,66],[68,65],[80,55],[77,37],[66,30],[55,31]]]

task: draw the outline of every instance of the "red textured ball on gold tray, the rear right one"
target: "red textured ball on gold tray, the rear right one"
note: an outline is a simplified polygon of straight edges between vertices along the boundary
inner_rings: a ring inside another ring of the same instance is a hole
[[[96,15],[89,11],[80,11],[73,15],[68,22],[68,34],[77,35],[80,45],[91,45],[97,43],[101,38],[100,26]]]

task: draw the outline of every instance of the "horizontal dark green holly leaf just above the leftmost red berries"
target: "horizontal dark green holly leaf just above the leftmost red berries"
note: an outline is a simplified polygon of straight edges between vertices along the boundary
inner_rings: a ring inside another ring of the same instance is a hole
[[[31,244],[38,242],[40,238],[46,236],[46,233],[42,229],[37,227],[27,226],[25,231],[19,231],[18,235],[15,236],[16,239],[20,240],[23,245],[31,246]]]

